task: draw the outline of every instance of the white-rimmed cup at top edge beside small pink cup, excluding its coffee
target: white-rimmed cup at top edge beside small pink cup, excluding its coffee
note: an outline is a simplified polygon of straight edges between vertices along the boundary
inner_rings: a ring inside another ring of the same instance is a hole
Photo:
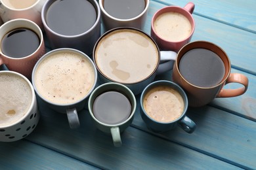
[[[129,19],[120,19],[120,18],[111,16],[104,9],[104,5],[103,5],[104,0],[99,0],[98,3],[100,5],[100,10],[102,14],[102,24],[104,25],[105,31],[108,31],[115,27],[135,27],[138,29],[142,29],[142,27],[146,22],[146,16],[148,14],[150,1],[145,0],[144,10],[138,16],[135,16],[134,18],[129,18]],[[118,7],[116,6],[115,8],[118,8]]]

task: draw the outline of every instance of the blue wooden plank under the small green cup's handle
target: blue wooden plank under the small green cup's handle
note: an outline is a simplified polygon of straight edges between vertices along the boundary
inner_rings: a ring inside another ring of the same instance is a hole
[[[28,140],[102,169],[211,169],[213,164],[219,169],[236,168],[134,127],[122,133],[123,146],[115,148],[110,135],[96,129],[86,110],[79,112],[81,127],[73,130],[66,115],[45,105],[40,110],[39,126]]]

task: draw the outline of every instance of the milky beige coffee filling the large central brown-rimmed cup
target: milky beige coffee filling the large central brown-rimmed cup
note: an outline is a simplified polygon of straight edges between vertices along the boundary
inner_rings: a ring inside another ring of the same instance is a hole
[[[158,66],[158,48],[139,31],[118,29],[100,39],[95,48],[96,66],[111,80],[135,83],[150,76]]]

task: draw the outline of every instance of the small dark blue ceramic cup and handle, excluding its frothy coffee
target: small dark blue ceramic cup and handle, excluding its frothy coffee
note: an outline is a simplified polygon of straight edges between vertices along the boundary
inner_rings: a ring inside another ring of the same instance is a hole
[[[182,99],[184,101],[184,110],[181,116],[176,120],[173,120],[171,122],[159,122],[151,118],[147,114],[146,110],[144,109],[143,101],[146,93],[149,92],[152,88],[157,86],[168,86],[170,88],[175,89],[177,92],[181,94]],[[148,129],[152,129],[152,131],[156,131],[156,132],[169,131],[179,126],[187,133],[192,133],[196,129],[196,124],[190,118],[188,118],[188,116],[186,116],[187,109],[188,109],[188,98],[186,97],[186,93],[184,92],[184,90],[182,90],[182,88],[179,85],[171,81],[158,80],[156,82],[152,82],[151,84],[146,86],[146,88],[143,90],[143,92],[140,95],[140,115],[142,117],[142,120],[144,120]]]

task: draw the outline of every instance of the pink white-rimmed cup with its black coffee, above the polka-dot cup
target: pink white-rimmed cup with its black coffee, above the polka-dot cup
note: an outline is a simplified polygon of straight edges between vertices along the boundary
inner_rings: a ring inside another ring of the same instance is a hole
[[[0,65],[31,80],[35,63],[45,54],[39,26],[26,19],[10,20],[0,27],[0,41]]]

